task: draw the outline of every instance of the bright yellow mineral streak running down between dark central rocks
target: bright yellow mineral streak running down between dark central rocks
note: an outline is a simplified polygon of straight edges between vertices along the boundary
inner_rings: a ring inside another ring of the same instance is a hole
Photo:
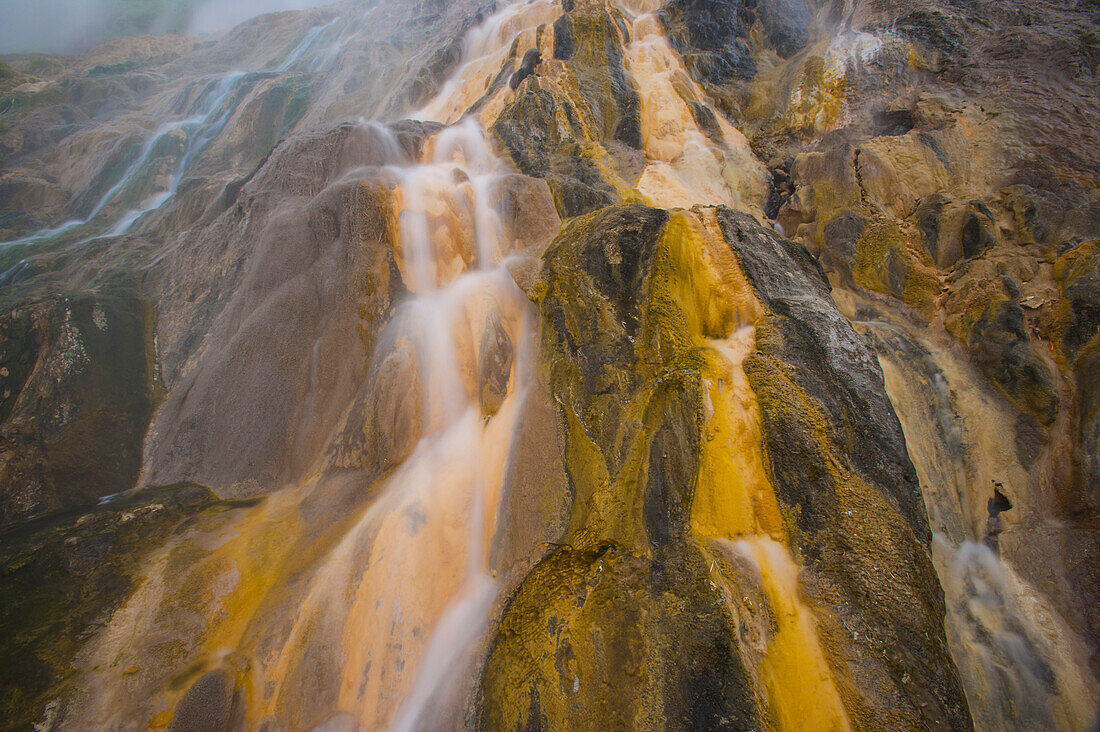
[[[706,422],[692,529],[702,539],[717,539],[717,546],[759,569],[777,625],[758,669],[773,728],[847,730],[847,714],[813,613],[799,599],[799,567],[783,544],[783,518],[763,468],[759,407],[741,368],[745,357],[756,349],[755,324],[763,316],[763,306],[752,295],[728,244],[715,233],[713,210],[673,215],[668,227],[667,239],[686,243],[691,252],[681,255],[682,277],[691,287],[684,295],[698,298],[721,291],[725,301],[715,308],[696,299],[696,310],[704,314],[695,324],[697,332],[718,323],[734,328],[727,338],[705,341],[711,373],[704,392]],[[737,612],[736,608],[732,611]]]

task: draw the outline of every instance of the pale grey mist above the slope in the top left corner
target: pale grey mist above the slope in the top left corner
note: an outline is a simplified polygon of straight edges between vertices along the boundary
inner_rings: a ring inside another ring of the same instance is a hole
[[[198,35],[334,0],[0,0],[0,54],[66,54],[143,33]]]

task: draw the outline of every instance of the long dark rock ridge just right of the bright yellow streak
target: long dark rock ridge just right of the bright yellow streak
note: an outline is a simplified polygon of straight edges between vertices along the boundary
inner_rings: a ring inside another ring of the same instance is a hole
[[[817,608],[837,608],[839,620],[818,615],[826,657],[839,679],[861,679],[839,681],[848,713],[871,725],[969,726],[927,517],[878,361],[835,309],[805,249],[745,214],[719,209],[718,220],[770,310],[745,371],[760,402],[769,476],[809,572],[803,591]],[[860,649],[868,632],[891,638],[888,658]],[[894,700],[891,711],[880,693]]]

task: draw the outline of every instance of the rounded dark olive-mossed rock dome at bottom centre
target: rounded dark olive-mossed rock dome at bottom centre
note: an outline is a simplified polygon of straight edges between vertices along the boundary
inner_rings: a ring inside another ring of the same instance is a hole
[[[639,710],[659,709],[654,726],[763,729],[706,576],[691,547],[653,558],[614,544],[554,551],[504,611],[482,677],[480,728],[627,729]],[[659,682],[639,684],[639,673]]]

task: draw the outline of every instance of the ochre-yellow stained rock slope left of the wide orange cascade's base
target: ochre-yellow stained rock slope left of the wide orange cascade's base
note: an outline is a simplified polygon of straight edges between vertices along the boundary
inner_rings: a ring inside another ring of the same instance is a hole
[[[94,671],[89,725],[111,729],[148,719],[163,728],[190,681],[223,659],[233,665],[231,651],[248,645],[253,618],[296,564],[301,495],[286,491],[254,510],[208,517],[150,558],[142,586],[77,662]],[[173,627],[188,629],[176,636],[186,640],[170,640]],[[182,657],[191,665],[178,667]],[[156,681],[164,678],[178,682]],[[152,696],[130,692],[151,684]]]

